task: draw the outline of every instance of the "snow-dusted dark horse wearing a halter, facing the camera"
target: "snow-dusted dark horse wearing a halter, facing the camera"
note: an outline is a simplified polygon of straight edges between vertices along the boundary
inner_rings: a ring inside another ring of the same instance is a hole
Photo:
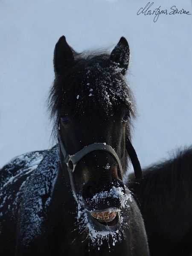
[[[143,219],[122,182],[135,103],[125,80],[129,47],[76,53],[62,36],[48,106],[58,144],[1,170],[0,255],[147,256]]]

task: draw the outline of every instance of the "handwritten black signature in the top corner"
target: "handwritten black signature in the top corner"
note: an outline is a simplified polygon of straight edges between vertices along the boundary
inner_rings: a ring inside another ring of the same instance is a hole
[[[137,15],[140,15],[141,13],[144,14],[144,15],[155,15],[154,17],[154,22],[157,21],[158,17],[160,14],[166,14],[166,15],[174,15],[174,14],[187,14],[187,15],[191,15],[191,13],[185,11],[184,9],[181,9],[180,11],[176,8],[176,6],[172,6],[171,7],[171,12],[167,11],[167,10],[162,10],[160,11],[160,7],[159,8],[156,8],[154,9],[153,11],[149,10],[149,8],[154,4],[150,2],[148,2],[148,4],[144,7],[144,8],[140,8],[139,11],[137,12]]]

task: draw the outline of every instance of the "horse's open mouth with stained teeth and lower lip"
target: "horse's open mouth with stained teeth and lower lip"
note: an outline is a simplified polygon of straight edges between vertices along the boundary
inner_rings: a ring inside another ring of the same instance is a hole
[[[103,212],[88,212],[87,216],[91,227],[96,231],[114,232],[119,230],[119,227],[121,225],[119,212],[115,210],[106,210]]]

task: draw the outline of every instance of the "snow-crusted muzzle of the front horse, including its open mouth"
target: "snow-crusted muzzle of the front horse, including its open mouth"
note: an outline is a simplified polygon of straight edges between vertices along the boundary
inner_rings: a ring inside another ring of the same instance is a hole
[[[92,185],[92,186],[91,186]],[[96,231],[116,231],[121,224],[119,212],[125,195],[124,184],[114,182],[87,183],[83,188],[84,208]]]

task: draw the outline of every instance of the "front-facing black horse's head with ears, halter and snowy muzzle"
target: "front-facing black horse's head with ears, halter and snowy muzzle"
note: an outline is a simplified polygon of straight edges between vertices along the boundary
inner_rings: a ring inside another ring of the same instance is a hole
[[[128,200],[122,181],[128,165],[134,98],[125,79],[129,46],[111,54],[75,52],[62,36],[55,46],[50,93],[61,167],[79,209],[96,231],[117,231]],[[131,144],[131,143],[130,143]]]

